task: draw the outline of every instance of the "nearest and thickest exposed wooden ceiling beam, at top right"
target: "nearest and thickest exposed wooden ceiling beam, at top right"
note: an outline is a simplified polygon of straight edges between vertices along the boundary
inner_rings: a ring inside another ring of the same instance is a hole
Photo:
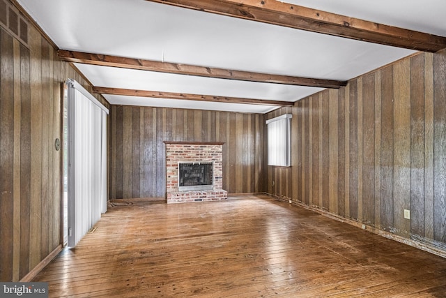
[[[370,43],[437,52],[446,37],[392,27],[274,0],[146,0],[203,10],[245,20],[364,40]]]

